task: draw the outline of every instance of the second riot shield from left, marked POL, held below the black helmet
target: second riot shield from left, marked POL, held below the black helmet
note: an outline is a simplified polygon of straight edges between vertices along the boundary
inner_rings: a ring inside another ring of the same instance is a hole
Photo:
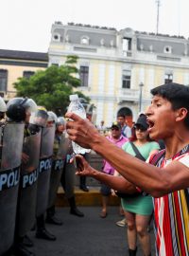
[[[16,226],[16,234],[20,237],[26,235],[35,223],[40,147],[41,131],[25,138],[23,153],[28,160],[21,166]]]

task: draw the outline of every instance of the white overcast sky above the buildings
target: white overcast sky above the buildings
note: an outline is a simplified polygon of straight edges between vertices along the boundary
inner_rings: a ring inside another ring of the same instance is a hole
[[[0,48],[48,50],[55,21],[156,32],[156,0],[0,0]],[[159,33],[189,37],[189,0],[161,0]]]

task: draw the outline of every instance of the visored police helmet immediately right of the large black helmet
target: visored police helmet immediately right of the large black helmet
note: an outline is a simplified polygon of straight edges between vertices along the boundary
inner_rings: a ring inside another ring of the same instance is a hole
[[[45,107],[38,106],[37,110],[31,114],[29,123],[45,127],[47,119],[48,119],[48,114]]]

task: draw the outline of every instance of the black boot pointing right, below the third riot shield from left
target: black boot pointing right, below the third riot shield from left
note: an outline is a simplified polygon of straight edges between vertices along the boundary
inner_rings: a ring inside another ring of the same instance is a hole
[[[37,219],[37,231],[36,231],[36,238],[48,240],[48,241],[55,241],[57,238],[55,235],[51,234],[49,231],[45,229],[45,222],[43,214]]]

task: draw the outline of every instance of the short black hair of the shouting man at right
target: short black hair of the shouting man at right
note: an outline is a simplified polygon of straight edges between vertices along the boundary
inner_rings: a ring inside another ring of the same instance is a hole
[[[170,82],[153,88],[151,91],[153,96],[159,95],[171,102],[172,109],[177,110],[184,107],[188,110],[188,114],[184,119],[184,123],[189,128],[189,87],[180,83]]]

